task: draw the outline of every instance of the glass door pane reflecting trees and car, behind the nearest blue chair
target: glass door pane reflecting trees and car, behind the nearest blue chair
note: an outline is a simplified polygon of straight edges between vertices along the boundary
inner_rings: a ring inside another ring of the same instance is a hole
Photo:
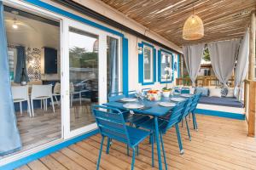
[[[95,122],[90,106],[98,102],[98,36],[69,28],[70,129]]]

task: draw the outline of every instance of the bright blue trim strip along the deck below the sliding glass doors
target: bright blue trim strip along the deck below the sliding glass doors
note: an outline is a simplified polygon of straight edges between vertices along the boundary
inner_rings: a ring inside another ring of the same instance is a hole
[[[90,131],[90,133],[85,133],[79,137],[75,137],[73,139],[68,139],[64,142],[62,142],[61,144],[56,144],[54,146],[51,146],[45,150],[41,150],[35,154],[32,154],[30,156],[26,156],[24,158],[21,158],[20,160],[17,160],[17,161],[13,161],[13,162],[10,162],[6,165],[3,165],[2,167],[0,167],[1,170],[9,170],[9,169],[15,169],[17,167],[21,167],[23,165],[25,165],[26,163],[28,162],[31,162],[31,161],[34,161],[34,160],[38,160],[39,158],[41,157],[44,157],[44,156],[48,156],[49,154],[57,151],[57,150],[61,150],[62,148],[65,148],[67,147],[68,145],[71,145],[71,144],[74,144],[74,143],[77,143],[83,139],[87,139],[89,138],[90,136],[93,136],[95,135],[96,133],[99,133],[98,132],[98,129],[96,130],[93,130],[93,131]]]

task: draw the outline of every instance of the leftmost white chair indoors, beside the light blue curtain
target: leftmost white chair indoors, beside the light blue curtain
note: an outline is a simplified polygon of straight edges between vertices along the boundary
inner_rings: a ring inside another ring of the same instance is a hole
[[[29,97],[28,97],[28,87],[27,86],[13,86],[12,94],[13,94],[14,103],[20,103],[20,115],[22,115],[22,101],[26,101],[27,102],[27,112],[29,113],[29,116],[32,116]]]

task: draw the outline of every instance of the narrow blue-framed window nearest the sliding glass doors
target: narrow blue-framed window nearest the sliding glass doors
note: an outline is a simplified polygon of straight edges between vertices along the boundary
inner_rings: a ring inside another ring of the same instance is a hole
[[[138,46],[143,48],[142,54],[138,55],[139,82],[143,85],[154,84],[156,74],[155,48],[146,42],[139,43]]]

